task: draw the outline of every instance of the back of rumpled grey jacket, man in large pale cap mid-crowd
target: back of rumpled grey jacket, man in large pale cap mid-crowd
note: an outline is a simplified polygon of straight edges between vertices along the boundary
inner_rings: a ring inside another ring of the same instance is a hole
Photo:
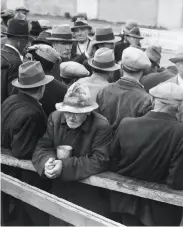
[[[122,78],[99,92],[99,112],[116,130],[125,117],[141,117],[151,109],[151,98],[143,86],[135,81]]]

